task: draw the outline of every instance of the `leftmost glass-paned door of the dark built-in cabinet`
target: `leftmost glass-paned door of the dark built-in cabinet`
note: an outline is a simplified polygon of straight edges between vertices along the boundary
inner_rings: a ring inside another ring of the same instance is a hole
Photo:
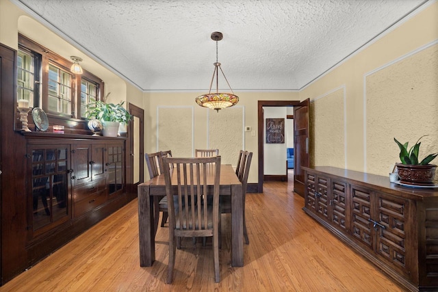
[[[31,226],[62,223],[70,217],[69,159],[70,146],[31,146]],[[45,230],[45,228],[44,228]]]

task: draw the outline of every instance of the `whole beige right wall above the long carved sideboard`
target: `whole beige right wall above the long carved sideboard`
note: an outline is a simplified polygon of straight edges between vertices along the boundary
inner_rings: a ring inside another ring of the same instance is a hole
[[[394,137],[413,144],[428,134],[420,157],[438,152],[437,19],[431,1],[300,91],[313,101],[313,165],[386,176],[399,161]]]

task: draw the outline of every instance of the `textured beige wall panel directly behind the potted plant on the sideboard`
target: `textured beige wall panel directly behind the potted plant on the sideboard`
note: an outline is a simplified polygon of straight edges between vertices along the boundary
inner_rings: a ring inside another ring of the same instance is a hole
[[[400,161],[394,137],[413,145],[429,135],[420,158],[438,152],[438,44],[372,72],[365,82],[368,172],[386,174]]]

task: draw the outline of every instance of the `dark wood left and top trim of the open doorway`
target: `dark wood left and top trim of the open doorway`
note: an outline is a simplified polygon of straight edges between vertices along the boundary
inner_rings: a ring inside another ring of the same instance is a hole
[[[259,182],[257,183],[257,192],[263,193],[263,174],[265,172],[265,152],[263,143],[263,130],[265,126],[265,119],[263,114],[263,107],[296,107],[300,105],[301,101],[258,101],[257,102],[257,133],[258,133],[258,151],[259,151]]]

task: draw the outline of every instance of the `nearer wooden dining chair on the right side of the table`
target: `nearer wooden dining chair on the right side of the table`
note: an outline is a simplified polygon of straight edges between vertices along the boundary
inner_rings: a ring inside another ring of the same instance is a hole
[[[251,165],[251,160],[253,159],[253,152],[244,151],[242,155],[242,163],[240,168],[242,169],[242,179],[239,178],[242,183],[242,198],[243,198],[243,217],[244,217],[244,239],[245,243],[249,244],[248,230],[246,230],[246,219],[245,219],[245,197],[246,197],[246,187],[248,186],[248,175]],[[238,176],[238,175],[237,175]],[[231,213],[231,197],[222,196],[220,197],[220,212]]]

